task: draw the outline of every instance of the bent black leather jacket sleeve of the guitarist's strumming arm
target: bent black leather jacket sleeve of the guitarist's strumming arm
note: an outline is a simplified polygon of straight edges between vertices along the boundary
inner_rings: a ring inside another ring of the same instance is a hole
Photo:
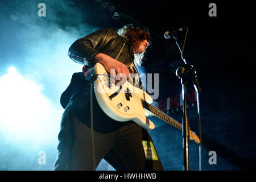
[[[93,57],[102,53],[102,48],[117,35],[114,28],[102,28],[77,39],[69,48],[68,56],[76,63],[93,66],[96,64]]]

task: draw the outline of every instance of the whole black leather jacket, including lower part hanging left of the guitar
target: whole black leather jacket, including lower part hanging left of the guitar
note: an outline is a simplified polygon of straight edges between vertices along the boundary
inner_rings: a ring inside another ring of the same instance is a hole
[[[113,28],[102,28],[76,40],[69,48],[68,56],[76,63],[93,66],[96,64],[93,57],[98,53],[105,53],[126,64],[127,67],[134,60],[134,53],[130,44],[125,38],[119,36]],[[74,73],[68,88],[61,94],[61,106],[65,109],[72,98],[80,97],[88,89],[89,81],[85,80],[82,72]]]

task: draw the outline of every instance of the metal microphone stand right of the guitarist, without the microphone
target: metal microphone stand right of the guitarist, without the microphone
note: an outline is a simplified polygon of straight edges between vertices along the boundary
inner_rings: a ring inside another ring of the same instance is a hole
[[[188,160],[188,131],[189,131],[189,123],[188,123],[188,117],[187,117],[187,97],[186,97],[186,84],[187,84],[187,76],[190,75],[193,80],[193,85],[196,90],[196,96],[197,96],[197,113],[199,116],[199,133],[200,133],[200,146],[199,146],[199,170],[201,171],[201,117],[200,117],[200,105],[199,105],[199,92],[201,92],[201,88],[199,85],[199,82],[197,80],[197,74],[196,69],[188,63],[183,57],[183,52],[180,49],[179,43],[177,42],[177,38],[175,35],[172,35],[175,39],[175,42],[177,44],[177,47],[180,50],[181,58],[184,61],[185,65],[184,67],[179,67],[176,70],[176,75],[181,79],[181,86],[182,86],[182,98],[183,98],[183,119],[182,119],[182,132],[183,132],[183,149],[184,149],[184,170],[189,170],[189,160]]]

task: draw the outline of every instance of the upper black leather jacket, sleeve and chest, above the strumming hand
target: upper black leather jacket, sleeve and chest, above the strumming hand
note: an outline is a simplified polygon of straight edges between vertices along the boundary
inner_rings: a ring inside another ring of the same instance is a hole
[[[76,40],[69,48],[68,55],[77,63],[95,64],[93,57],[105,53],[129,66],[134,60],[133,49],[113,28],[102,28],[84,38]]]

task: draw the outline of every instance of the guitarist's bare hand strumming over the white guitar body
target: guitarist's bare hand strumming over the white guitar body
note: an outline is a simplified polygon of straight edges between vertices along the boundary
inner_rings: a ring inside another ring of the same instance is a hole
[[[104,65],[106,71],[115,78],[119,73],[124,74],[123,76],[118,75],[119,77],[126,76],[126,80],[127,78],[129,78],[129,72],[126,65],[121,63],[120,61],[115,60],[112,57],[105,55],[104,53],[98,53],[96,56],[94,56],[94,60],[97,63],[101,63],[102,65]]]

